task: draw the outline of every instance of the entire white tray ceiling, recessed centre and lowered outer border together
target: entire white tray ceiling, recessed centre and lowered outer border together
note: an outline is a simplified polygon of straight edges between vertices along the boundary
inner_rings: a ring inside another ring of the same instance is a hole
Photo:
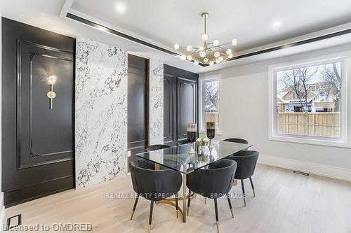
[[[119,6],[123,6],[124,10]],[[351,35],[347,34],[326,41],[202,67],[69,20],[65,14],[60,15],[62,12],[73,12],[117,31],[173,50],[174,43],[194,46],[201,43],[203,22],[200,14],[206,10],[210,13],[210,39],[218,39],[220,43],[224,43],[236,38],[238,45],[234,49],[234,55],[241,55],[351,28],[350,0],[1,0],[0,7],[4,17],[68,36],[85,36],[102,43],[118,45],[136,55],[155,57],[166,64],[197,73],[351,41]]]

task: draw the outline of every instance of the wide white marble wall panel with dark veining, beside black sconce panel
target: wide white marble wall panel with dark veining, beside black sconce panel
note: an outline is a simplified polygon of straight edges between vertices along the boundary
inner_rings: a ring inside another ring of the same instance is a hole
[[[77,38],[75,144],[77,188],[126,173],[127,52]]]

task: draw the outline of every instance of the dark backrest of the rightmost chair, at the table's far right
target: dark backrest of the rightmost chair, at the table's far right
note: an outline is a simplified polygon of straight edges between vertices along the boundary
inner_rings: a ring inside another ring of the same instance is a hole
[[[237,171],[235,171],[234,178],[244,180],[253,175],[259,153],[255,150],[241,150],[235,153],[230,159],[237,162]]]

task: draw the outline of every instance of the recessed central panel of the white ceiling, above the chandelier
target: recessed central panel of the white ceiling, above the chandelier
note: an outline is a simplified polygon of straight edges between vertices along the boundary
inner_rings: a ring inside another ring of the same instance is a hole
[[[351,22],[350,0],[76,0],[72,8],[170,48],[201,44],[203,11],[209,39],[236,38],[237,51]]]

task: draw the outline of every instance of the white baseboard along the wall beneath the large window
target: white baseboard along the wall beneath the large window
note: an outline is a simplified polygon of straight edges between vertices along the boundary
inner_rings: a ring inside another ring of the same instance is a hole
[[[270,155],[260,155],[258,157],[258,163],[351,182],[351,169],[291,160],[284,157],[275,157]]]

